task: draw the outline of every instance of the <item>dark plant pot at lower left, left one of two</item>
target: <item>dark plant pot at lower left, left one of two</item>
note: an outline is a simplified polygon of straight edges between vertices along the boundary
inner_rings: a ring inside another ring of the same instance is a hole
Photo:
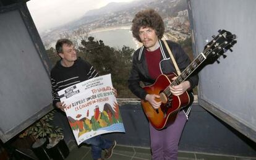
[[[41,138],[39,141],[35,141],[32,145],[32,151],[36,157],[40,160],[50,160],[50,156],[46,149],[46,138]]]

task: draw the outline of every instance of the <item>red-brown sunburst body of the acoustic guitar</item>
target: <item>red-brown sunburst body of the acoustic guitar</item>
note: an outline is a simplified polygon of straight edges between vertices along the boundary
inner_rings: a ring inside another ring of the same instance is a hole
[[[163,90],[171,85],[171,78],[177,77],[176,74],[160,75],[153,85],[145,86],[143,89],[148,94],[160,95]],[[156,101],[161,101],[156,99]],[[167,103],[162,103],[158,109],[154,109],[148,101],[141,101],[143,111],[145,112],[151,125],[158,130],[168,127],[172,124],[179,113],[181,107],[190,103],[189,94],[184,92],[180,96],[171,95],[168,97]]]

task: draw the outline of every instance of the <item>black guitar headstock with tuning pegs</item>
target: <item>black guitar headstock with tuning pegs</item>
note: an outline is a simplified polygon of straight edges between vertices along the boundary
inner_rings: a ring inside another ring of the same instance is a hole
[[[213,36],[213,40],[211,40],[203,49],[203,54],[208,57],[218,58],[226,55],[224,53],[228,51],[228,49],[232,52],[231,49],[234,44],[236,44],[236,35],[233,35],[231,32],[226,30],[218,30],[219,34],[217,36]]]

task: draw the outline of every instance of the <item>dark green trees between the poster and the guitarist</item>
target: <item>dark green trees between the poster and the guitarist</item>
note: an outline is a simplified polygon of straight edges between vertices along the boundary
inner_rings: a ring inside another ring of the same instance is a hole
[[[81,44],[79,50],[85,54],[85,58],[95,67],[97,72],[100,75],[111,74],[119,98],[135,98],[127,88],[134,49],[123,46],[122,49],[117,50],[106,46],[102,40],[95,41],[92,36],[89,36],[87,41],[82,40]]]

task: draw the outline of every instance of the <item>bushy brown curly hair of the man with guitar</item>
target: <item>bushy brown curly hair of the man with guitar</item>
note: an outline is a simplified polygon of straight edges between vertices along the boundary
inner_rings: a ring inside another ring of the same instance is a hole
[[[132,20],[132,35],[138,41],[140,40],[139,30],[140,27],[150,27],[156,31],[156,35],[159,39],[163,37],[164,33],[164,22],[161,16],[153,9],[146,9],[135,14],[134,19]]]

